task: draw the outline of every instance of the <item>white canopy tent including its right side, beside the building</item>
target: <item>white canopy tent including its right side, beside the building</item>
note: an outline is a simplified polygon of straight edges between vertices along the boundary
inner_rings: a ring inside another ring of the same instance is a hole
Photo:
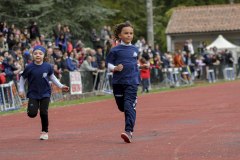
[[[218,50],[228,49],[232,51],[234,57],[234,63],[237,64],[238,55],[240,47],[232,44],[228,40],[226,40],[222,35],[219,35],[215,41],[213,41],[209,46],[207,46],[207,50],[211,50],[212,48],[216,47]]]

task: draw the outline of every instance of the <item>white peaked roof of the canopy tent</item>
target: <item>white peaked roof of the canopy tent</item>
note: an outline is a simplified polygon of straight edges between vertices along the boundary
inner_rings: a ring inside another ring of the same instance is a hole
[[[217,49],[234,49],[238,48],[239,46],[232,44],[228,40],[226,40],[222,35],[219,35],[218,38],[213,41],[209,46],[207,46],[207,49],[217,47]]]

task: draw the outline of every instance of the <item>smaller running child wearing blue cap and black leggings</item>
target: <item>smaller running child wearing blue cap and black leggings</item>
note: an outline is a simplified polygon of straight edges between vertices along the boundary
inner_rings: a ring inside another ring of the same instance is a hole
[[[48,139],[48,106],[51,96],[51,86],[49,80],[56,84],[63,91],[68,91],[69,87],[61,84],[53,74],[53,67],[44,62],[46,49],[43,46],[36,46],[33,49],[33,63],[26,66],[20,77],[19,95],[24,97],[24,84],[28,82],[27,98],[28,108],[27,114],[30,118],[34,118],[40,110],[40,118],[42,124],[41,140]]]

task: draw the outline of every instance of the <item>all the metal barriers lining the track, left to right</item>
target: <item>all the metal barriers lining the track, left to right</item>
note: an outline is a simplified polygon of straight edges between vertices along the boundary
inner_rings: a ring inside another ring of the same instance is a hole
[[[218,80],[234,80],[237,76],[236,67],[224,65],[217,66],[202,66],[197,70],[198,76],[195,73],[188,72],[183,68],[167,68],[167,69],[151,69],[152,85],[158,88],[161,87],[178,87],[184,85],[192,85],[195,81],[208,81],[214,83]],[[64,72],[61,82],[71,86],[70,72]],[[105,70],[98,72],[80,71],[82,93],[100,92],[104,94],[112,94],[111,80],[112,73]],[[188,77],[188,79],[186,79]],[[52,96],[51,102],[64,100],[64,94],[54,84],[51,84]],[[69,93],[67,93],[69,94]],[[0,85],[0,111],[9,111],[19,109],[22,101],[18,95],[17,87],[14,82]]]

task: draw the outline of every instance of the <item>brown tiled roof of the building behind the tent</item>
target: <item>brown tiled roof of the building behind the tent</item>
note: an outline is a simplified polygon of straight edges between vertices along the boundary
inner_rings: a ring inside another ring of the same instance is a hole
[[[240,31],[240,4],[176,8],[166,34]]]

